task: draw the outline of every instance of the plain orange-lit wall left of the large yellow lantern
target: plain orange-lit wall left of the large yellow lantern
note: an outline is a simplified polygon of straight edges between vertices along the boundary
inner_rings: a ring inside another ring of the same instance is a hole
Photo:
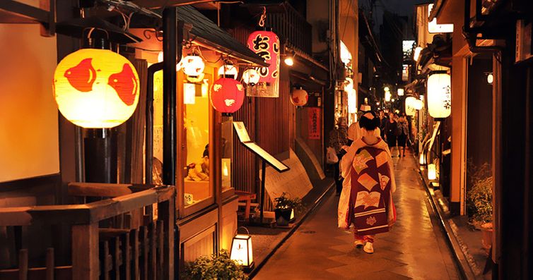
[[[0,183],[57,174],[56,38],[39,25],[1,24],[0,42]]]

